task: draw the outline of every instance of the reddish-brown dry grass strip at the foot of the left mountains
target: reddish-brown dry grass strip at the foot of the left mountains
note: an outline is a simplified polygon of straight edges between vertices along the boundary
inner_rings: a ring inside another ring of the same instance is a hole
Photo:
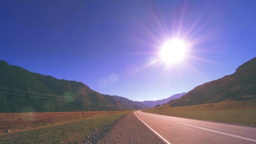
[[[121,112],[123,111],[84,112],[84,119]],[[12,132],[21,132],[78,120],[82,120],[82,112],[0,113],[0,131],[11,129]]]

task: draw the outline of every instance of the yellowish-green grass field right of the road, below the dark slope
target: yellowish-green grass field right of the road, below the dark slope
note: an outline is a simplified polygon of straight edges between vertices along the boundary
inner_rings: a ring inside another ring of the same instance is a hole
[[[166,104],[141,111],[173,117],[256,126],[256,101],[222,101],[184,107],[169,107],[169,104]]]

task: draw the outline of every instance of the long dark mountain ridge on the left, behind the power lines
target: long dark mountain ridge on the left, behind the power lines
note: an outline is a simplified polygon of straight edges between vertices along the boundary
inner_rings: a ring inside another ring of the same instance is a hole
[[[136,101],[115,97],[93,91],[81,82],[58,80],[48,75],[29,72],[22,67],[9,65],[6,61],[0,61],[0,112],[147,108]],[[82,103],[81,99],[88,102]]]

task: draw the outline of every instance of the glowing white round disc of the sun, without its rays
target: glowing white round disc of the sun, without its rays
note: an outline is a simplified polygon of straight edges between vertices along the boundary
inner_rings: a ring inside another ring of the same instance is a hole
[[[166,41],[160,51],[160,58],[168,64],[175,64],[184,59],[187,53],[187,43],[183,40],[173,39]]]

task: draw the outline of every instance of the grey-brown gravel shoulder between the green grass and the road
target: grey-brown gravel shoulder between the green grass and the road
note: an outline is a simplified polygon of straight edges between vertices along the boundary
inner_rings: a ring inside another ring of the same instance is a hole
[[[163,144],[149,129],[130,112],[112,127],[98,144]]]

